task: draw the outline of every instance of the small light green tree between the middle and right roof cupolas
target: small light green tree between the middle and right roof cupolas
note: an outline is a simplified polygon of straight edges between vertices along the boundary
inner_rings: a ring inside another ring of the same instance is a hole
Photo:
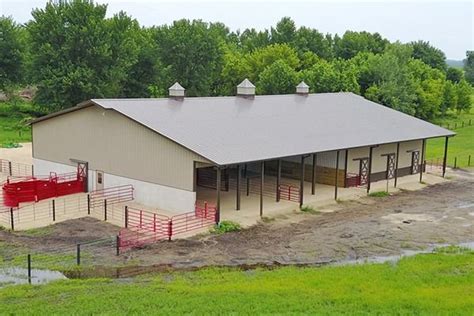
[[[283,60],[277,60],[259,75],[257,92],[259,94],[294,93],[298,79],[298,73],[292,67]]]

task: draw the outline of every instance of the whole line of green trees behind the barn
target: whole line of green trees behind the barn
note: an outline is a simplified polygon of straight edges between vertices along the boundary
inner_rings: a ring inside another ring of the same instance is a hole
[[[0,17],[0,90],[37,88],[47,111],[90,98],[165,96],[179,81],[188,96],[234,95],[249,78],[259,94],[350,91],[423,119],[471,107],[474,52],[464,69],[425,41],[390,42],[378,33],[342,36],[282,18],[263,31],[178,20],[140,26],[125,12],[106,18],[89,0],[49,2],[24,25]]]

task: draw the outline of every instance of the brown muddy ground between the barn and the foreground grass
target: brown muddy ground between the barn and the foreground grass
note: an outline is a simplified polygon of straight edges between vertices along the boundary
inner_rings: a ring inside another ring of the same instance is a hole
[[[454,176],[452,181],[421,191],[344,202],[319,214],[288,214],[236,233],[161,242],[120,256],[110,247],[91,246],[89,251],[99,265],[193,268],[318,264],[398,255],[404,249],[424,249],[432,244],[472,242],[474,174],[457,171]],[[0,242],[10,249],[48,252],[77,242],[113,238],[117,232],[116,226],[83,218],[33,234],[1,231]]]

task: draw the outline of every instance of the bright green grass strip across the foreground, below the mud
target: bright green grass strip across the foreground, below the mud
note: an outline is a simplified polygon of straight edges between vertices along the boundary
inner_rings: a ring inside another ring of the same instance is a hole
[[[474,252],[275,270],[206,269],[0,290],[2,314],[456,314],[474,310]]]

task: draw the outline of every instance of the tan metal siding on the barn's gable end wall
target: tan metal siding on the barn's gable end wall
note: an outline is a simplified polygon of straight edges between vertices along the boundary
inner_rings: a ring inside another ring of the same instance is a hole
[[[185,127],[183,127],[185,128]],[[193,190],[193,162],[209,162],[133,120],[97,106],[33,125],[33,157]]]

